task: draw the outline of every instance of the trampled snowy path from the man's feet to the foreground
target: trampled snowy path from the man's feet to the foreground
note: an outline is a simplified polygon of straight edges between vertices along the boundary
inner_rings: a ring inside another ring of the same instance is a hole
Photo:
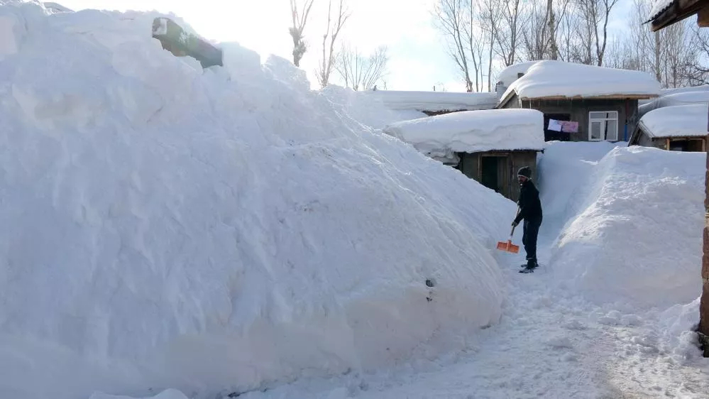
[[[419,361],[378,375],[309,379],[240,396],[276,398],[709,398],[709,363],[683,365],[661,347],[654,314],[603,309],[551,290],[553,232],[540,236],[535,273],[505,272],[510,300],[499,324],[456,359]]]

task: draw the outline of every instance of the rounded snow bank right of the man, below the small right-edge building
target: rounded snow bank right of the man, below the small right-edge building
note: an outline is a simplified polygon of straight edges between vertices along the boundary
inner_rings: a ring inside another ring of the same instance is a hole
[[[704,164],[703,153],[612,149],[572,199],[581,211],[552,247],[556,281],[596,302],[669,306],[695,299]]]

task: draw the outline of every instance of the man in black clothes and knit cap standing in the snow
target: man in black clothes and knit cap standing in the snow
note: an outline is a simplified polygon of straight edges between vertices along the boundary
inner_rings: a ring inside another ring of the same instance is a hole
[[[539,201],[539,190],[532,182],[532,170],[529,167],[520,168],[517,172],[517,180],[519,180],[521,187],[520,200],[517,201],[520,212],[517,212],[512,226],[517,226],[524,219],[522,244],[524,244],[524,251],[527,252],[527,264],[523,265],[524,269],[520,270],[520,273],[532,273],[535,268],[539,267],[539,263],[537,263],[537,236],[539,235],[539,226],[542,225],[542,202]]]

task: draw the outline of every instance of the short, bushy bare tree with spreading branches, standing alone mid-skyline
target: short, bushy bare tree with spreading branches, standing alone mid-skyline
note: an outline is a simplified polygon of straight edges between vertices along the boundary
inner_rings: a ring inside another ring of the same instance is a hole
[[[388,61],[388,50],[384,46],[377,48],[368,57],[350,46],[344,46],[335,69],[345,81],[346,87],[368,90],[386,74]]]

